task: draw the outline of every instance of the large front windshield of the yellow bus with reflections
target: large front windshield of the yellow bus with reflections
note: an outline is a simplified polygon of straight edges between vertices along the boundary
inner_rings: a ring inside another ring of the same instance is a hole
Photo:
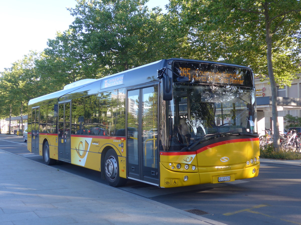
[[[169,121],[169,151],[221,135],[254,134],[254,89],[175,83],[173,100],[169,101]]]

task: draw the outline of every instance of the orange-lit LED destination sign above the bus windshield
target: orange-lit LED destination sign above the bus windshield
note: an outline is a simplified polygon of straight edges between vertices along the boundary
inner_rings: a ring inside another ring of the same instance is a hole
[[[174,62],[173,70],[180,76],[188,77],[191,83],[253,87],[249,69],[216,64]]]

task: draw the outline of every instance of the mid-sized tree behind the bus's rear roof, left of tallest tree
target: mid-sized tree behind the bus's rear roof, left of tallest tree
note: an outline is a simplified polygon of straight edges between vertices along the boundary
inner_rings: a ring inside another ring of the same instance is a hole
[[[95,57],[85,52],[81,42],[74,29],[58,32],[55,39],[48,40],[43,57],[35,61],[36,71],[43,79],[52,78],[53,91],[77,80],[101,77]]]

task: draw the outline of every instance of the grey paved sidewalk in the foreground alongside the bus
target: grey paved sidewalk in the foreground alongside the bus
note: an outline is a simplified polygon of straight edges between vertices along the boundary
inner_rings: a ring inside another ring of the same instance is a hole
[[[223,224],[1,149],[0,223]]]

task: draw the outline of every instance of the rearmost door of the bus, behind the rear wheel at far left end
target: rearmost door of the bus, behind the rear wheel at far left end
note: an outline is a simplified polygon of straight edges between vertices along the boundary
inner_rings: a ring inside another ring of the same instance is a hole
[[[39,154],[39,107],[31,110],[31,152]]]

